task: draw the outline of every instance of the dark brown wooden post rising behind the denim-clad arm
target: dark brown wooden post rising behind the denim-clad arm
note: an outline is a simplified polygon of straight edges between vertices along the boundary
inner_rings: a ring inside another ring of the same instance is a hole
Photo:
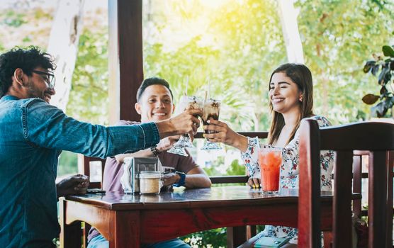
[[[140,120],[135,95],[143,80],[142,0],[108,1],[110,124]]]

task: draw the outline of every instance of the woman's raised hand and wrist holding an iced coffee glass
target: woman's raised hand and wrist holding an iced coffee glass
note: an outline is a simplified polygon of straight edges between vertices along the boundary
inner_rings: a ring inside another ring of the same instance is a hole
[[[210,142],[222,142],[225,145],[235,147],[242,152],[247,150],[247,137],[233,131],[226,123],[219,120],[209,120],[210,125],[204,125],[204,130],[215,131],[216,133],[203,134]]]

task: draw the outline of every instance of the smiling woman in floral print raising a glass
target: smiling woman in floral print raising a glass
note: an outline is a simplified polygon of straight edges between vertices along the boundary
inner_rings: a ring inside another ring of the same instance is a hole
[[[312,74],[304,64],[282,64],[271,74],[269,80],[269,107],[272,113],[271,129],[268,142],[264,147],[276,147],[281,150],[281,187],[298,188],[298,128],[303,118],[314,118],[320,126],[330,125],[322,116],[313,115],[313,80]],[[260,188],[260,167],[257,163],[259,139],[245,137],[234,132],[226,123],[211,120],[204,125],[204,130],[215,131],[204,134],[213,142],[223,142],[242,152],[242,159],[249,170],[249,186]],[[263,146],[263,145],[261,145]],[[322,152],[322,190],[331,189],[333,155]],[[291,227],[266,226],[260,235],[270,237],[288,237],[297,243],[297,230]],[[259,235],[259,236],[260,236]]]

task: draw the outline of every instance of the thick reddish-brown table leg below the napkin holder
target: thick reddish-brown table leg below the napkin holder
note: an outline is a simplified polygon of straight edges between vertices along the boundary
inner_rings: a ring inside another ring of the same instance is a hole
[[[140,211],[111,211],[111,225],[110,248],[140,247]]]

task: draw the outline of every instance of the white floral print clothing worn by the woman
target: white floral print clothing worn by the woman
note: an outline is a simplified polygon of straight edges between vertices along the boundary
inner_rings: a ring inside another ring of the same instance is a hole
[[[317,120],[319,127],[327,127],[330,122],[321,115],[315,115],[310,119]],[[246,152],[242,152],[241,157],[247,167],[251,177],[260,178],[259,164],[257,164],[257,149],[259,139],[257,137],[248,137],[248,147]],[[300,147],[299,130],[295,132],[293,140],[282,148],[283,164],[281,165],[281,187],[298,188],[298,159]],[[320,186],[322,191],[331,191],[331,174],[334,167],[334,154],[331,151],[322,151],[320,154]],[[297,243],[297,229],[292,227],[266,225],[263,232],[258,236],[270,237],[290,237],[291,243]]]

